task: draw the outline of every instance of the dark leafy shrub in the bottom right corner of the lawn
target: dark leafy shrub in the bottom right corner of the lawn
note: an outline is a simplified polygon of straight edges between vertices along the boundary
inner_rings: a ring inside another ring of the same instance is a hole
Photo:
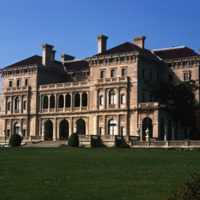
[[[167,200],[199,200],[200,199],[200,174],[191,174],[191,181],[184,183]]]

